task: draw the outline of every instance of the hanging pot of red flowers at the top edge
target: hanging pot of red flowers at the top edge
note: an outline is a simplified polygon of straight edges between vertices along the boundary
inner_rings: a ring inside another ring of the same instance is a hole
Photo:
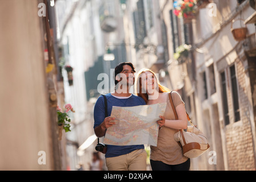
[[[196,0],[177,0],[174,1],[174,14],[183,18],[184,23],[190,23],[195,18]]]

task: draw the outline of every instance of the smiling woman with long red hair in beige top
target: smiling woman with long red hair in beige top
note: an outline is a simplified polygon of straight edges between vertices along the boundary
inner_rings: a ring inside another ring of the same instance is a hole
[[[157,146],[150,146],[150,164],[153,171],[188,171],[190,159],[183,155],[179,144],[174,140],[174,134],[180,129],[187,128],[187,114],[184,102],[179,93],[172,92],[172,100],[176,108],[178,120],[175,119],[168,94],[170,90],[159,84],[155,73],[150,69],[139,71],[136,79],[137,95],[146,104],[167,102],[166,111],[158,121],[159,133]]]

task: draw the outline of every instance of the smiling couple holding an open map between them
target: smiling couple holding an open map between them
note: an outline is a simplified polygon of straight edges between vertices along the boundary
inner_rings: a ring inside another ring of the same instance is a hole
[[[177,92],[172,99],[179,119],[175,119],[168,94],[150,69],[139,71],[136,79],[134,65],[129,62],[115,67],[115,91],[100,96],[94,106],[94,133],[104,137],[109,171],[145,171],[146,151],[150,145],[152,170],[189,170],[190,160],[183,156],[174,140],[174,133],[187,128],[184,102]],[[134,84],[135,83],[135,84]],[[129,93],[135,85],[135,94]]]

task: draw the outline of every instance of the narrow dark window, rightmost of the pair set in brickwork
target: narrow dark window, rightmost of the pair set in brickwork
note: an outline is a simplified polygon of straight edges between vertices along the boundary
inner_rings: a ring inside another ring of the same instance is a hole
[[[234,121],[237,122],[237,121],[240,121],[240,109],[239,109],[239,102],[238,102],[236,69],[234,65],[230,67],[230,77],[231,77],[231,84],[232,84]]]

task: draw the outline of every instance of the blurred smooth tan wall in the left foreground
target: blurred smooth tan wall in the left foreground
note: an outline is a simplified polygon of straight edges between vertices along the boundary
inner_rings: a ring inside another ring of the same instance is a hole
[[[37,1],[1,1],[0,22],[0,170],[52,170]],[[38,163],[40,151],[46,164]]]

